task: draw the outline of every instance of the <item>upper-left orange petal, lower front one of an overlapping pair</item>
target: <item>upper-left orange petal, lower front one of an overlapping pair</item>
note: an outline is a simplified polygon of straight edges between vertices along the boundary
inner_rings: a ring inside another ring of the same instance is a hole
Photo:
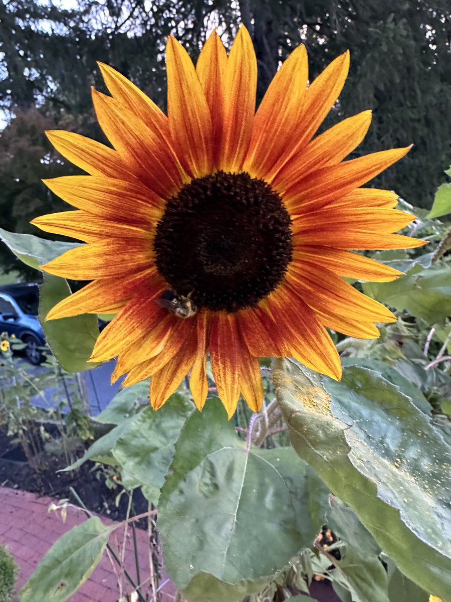
[[[189,181],[173,149],[120,102],[93,89],[97,120],[133,175],[169,198]]]

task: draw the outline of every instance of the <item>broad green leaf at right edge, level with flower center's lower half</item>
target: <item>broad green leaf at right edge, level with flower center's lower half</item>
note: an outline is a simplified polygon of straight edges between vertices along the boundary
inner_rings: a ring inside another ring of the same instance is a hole
[[[399,311],[425,320],[429,326],[451,315],[451,270],[431,267],[393,282],[366,282],[363,292]]]

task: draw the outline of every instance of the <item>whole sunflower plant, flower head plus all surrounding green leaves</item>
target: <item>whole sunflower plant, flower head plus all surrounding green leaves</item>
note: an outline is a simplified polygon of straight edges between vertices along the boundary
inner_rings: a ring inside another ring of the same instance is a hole
[[[47,180],[76,210],[33,223],[81,242],[0,230],[43,271],[61,367],[117,358],[126,375],[96,418],[108,432],[68,468],[113,467],[127,518],[67,532],[20,602],[70,599],[139,518],[180,601],[302,602],[327,577],[343,602],[450,602],[451,185],[431,211],[366,187],[411,148],[346,160],[370,111],[316,135],[347,52],[309,82],[299,45],[257,111],[244,26],[196,64],[169,37],[166,63],[167,115],[100,64],[112,147],[48,132],[88,175]],[[97,314],[114,314],[100,334]],[[121,600],[159,599],[154,557]]]

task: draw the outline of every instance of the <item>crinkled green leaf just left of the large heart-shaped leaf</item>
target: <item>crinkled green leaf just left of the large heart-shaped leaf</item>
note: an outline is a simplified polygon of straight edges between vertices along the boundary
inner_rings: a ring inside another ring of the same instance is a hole
[[[174,394],[158,411],[147,405],[124,424],[112,455],[134,479],[160,489],[172,462],[175,442],[194,406]]]

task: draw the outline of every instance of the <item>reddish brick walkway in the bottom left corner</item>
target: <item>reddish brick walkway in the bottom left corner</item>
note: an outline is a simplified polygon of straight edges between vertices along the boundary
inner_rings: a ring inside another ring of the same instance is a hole
[[[52,503],[49,497],[37,497],[25,491],[15,491],[0,487],[0,544],[7,545],[10,552],[16,557],[20,568],[17,591],[28,580],[44,554],[57,539],[72,527],[86,520],[84,512],[76,507],[67,508],[66,523],[63,523],[60,512],[48,512]],[[105,524],[112,521],[101,518]],[[117,538],[117,542],[115,542]],[[147,534],[137,529],[138,556],[140,558],[141,580],[149,575],[149,547]],[[117,545],[122,545],[123,532],[117,530],[110,536],[110,544],[117,550]],[[133,554],[133,539],[129,529],[126,541],[125,565],[133,581],[137,583],[135,557]],[[115,568],[118,565],[115,563]],[[165,578],[161,580],[163,583]],[[129,592],[129,584],[123,581],[124,594]],[[99,565],[91,574],[87,582],[69,598],[70,602],[117,602],[119,597],[117,577],[107,554],[103,554]],[[162,588],[164,602],[174,600],[174,586],[171,583]],[[172,595],[171,595],[172,594]],[[44,602],[36,600],[35,602]]]

